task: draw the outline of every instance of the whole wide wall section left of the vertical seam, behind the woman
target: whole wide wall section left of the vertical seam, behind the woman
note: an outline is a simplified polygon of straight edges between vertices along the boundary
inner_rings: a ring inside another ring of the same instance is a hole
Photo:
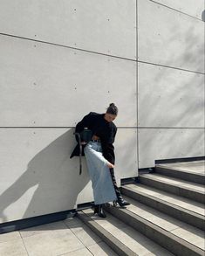
[[[137,176],[136,2],[0,5],[1,222],[93,200],[85,163],[79,176],[69,158],[73,128],[111,102],[120,107],[118,183]]]

